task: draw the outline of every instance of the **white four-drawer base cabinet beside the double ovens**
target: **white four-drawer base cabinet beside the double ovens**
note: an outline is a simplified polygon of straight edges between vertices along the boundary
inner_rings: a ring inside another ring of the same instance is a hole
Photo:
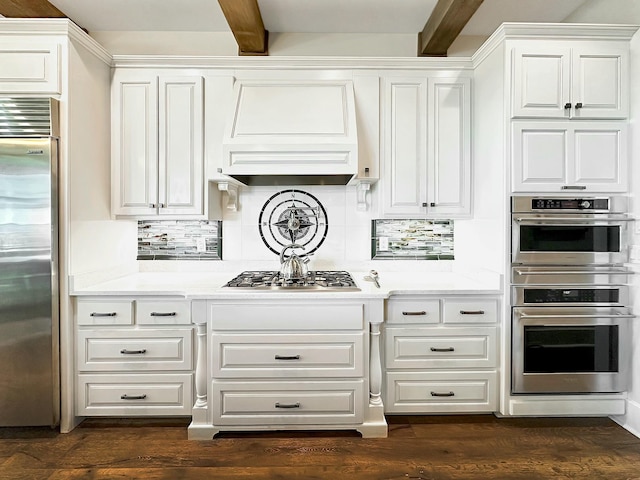
[[[495,297],[389,299],[385,412],[497,411],[498,318]]]

